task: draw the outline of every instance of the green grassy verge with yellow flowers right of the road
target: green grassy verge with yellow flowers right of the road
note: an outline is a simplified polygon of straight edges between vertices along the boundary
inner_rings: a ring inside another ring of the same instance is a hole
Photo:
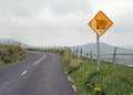
[[[63,66],[72,78],[80,95],[133,95],[133,67],[101,62],[101,71],[96,71],[96,62],[73,57],[64,52]]]

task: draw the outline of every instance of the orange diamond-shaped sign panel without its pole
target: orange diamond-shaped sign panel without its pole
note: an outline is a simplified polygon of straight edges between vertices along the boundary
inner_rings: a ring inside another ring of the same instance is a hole
[[[113,22],[102,11],[89,22],[91,29],[99,35],[102,35],[112,24]]]

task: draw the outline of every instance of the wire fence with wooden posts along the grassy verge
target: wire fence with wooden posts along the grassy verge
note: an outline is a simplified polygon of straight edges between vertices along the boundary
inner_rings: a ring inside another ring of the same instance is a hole
[[[114,48],[114,53],[101,53],[100,60],[116,64],[122,64],[126,66],[133,66],[133,53],[117,53],[117,48]],[[72,51],[72,54],[78,57],[86,57],[90,60],[96,60],[98,54],[93,53],[92,51],[90,53],[83,52],[83,50],[76,49],[75,51]]]

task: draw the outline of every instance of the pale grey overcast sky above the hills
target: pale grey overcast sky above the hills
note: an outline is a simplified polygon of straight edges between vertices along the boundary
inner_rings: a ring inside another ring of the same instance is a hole
[[[96,41],[89,21],[103,11],[113,25],[100,38],[133,45],[133,0],[0,0],[0,39],[30,45],[80,45]]]

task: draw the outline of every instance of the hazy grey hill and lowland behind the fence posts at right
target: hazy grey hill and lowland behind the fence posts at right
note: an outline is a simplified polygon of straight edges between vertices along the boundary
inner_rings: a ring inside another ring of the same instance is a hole
[[[106,43],[100,43],[100,53],[101,54],[113,54],[114,53],[113,45],[106,44]],[[71,51],[76,51],[79,49],[79,55],[80,50],[83,51],[83,56],[86,56],[86,53],[90,54],[92,51],[93,54],[96,54],[96,43],[88,43],[84,45],[76,45],[76,46],[70,46]],[[131,49],[124,49],[124,48],[117,48],[116,53],[121,54],[133,54],[133,50]],[[90,56],[89,56],[90,57]],[[112,55],[101,55],[102,61],[112,62]],[[93,56],[93,59],[96,59],[96,55]],[[133,65],[133,55],[116,55],[116,63],[123,64],[123,65]]]

